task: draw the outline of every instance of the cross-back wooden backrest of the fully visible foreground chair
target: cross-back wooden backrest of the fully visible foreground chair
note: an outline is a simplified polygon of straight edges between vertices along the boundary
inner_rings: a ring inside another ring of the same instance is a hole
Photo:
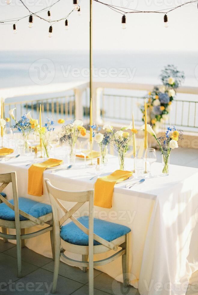
[[[105,239],[99,237],[98,235],[93,233],[93,199],[94,199],[94,191],[64,191],[59,188],[55,188],[49,179],[45,179],[47,191],[49,194],[52,211],[53,211],[53,224],[54,224],[54,230],[55,234],[57,231],[60,230],[60,227],[62,224],[68,220],[71,219],[75,225],[78,226],[85,234],[89,235],[89,247],[90,245],[93,246],[93,239],[98,241],[100,244],[103,244],[104,246],[108,247],[109,249],[117,250],[117,247],[111,242],[106,241]],[[65,206],[60,202],[62,201],[68,201],[76,203],[72,209],[69,211],[66,210]],[[84,205],[85,202],[89,202],[89,229],[86,228],[84,225],[81,224],[81,222],[76,219],[73,214],[81,208],[81,206]],[[58,216],[58,208],[57,205],[63,210],[65,213],[62,218],[59,219]],[[59,229],[57,229],[59,227]]]

